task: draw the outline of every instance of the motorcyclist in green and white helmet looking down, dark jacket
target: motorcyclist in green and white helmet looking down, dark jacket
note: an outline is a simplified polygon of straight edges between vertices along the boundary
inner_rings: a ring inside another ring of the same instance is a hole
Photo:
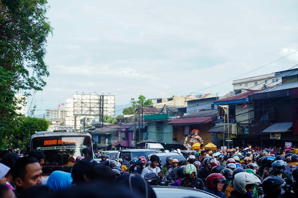
[[[179,184],[180,186],[199,189],[199,190],[204,189],[203,181],[196,176],[197,169],[195,168],[195,165],[187,164],[184,167],[184,174],[186,175],[186,177],[181,180]]]

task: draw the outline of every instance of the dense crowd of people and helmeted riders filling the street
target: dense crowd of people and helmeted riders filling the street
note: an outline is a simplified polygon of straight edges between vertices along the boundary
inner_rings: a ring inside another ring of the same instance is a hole
[[[103,154],[100,159],[79,156],[70,172],[56,170],[45,180],[42,151],[27,155],[1,151],[0,198],[113,197],[113,192],[124,192],[121,197],[154,198],[153,185],[199,189],[221,198],[298,197],[298,167],[285,171],[288,163],[298,162],[296,145],[288,151],[250,144],[214,151],[202,144],[182,161],[173,159],[170,152],[165,162],[155,154],[113,160]]]

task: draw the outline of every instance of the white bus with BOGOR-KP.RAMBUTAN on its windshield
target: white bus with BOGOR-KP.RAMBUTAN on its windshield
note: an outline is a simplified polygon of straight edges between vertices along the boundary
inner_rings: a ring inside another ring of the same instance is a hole
[[[43,175],[55,170],[70,172],[78,156],[94,158],[97,144],[87,132],[41,131],[31,136],[30,151],[42,151],[46,159],[42,168]]]

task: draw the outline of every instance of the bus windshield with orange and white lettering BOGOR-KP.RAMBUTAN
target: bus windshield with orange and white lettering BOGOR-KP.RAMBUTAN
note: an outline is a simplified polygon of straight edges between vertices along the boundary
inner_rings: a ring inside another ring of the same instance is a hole
[[[70,172],[78,156],[93,157],[90,137],[36,137],[32,139],[31,149],[44,152],[43,173],[50,174],[54,170]]]

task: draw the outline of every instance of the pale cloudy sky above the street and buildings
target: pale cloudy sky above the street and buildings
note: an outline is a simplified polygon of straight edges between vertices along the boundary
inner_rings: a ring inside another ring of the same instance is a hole
[[[296,0],[48,0],[48,5],[46,17],[54,28],[45,56],[50,76],[43,91],[32,91],[28,99],[28,111],[36,105],[35,114],[58,108],[76,92],[110,93],[116,105],[139,95],[223,96],[233,90],[232,80],[298,64]]]

